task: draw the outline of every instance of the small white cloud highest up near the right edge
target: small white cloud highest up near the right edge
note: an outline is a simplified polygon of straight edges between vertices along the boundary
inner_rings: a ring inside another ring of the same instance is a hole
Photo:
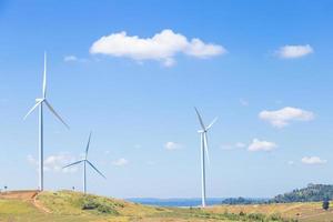
[[[296,59],[313,53],[310,44],[304,46],[284,46],[276,51],[278,56],[283,59]]]

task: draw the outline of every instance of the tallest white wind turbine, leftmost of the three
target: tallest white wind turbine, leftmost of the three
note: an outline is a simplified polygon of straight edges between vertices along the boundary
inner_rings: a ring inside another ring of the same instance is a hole
[[[52,105],[47,100],[47,52],[44,52],[44,72],[43,72],[43,83],[42,83],[42,97],[36,99],[36,104],[30,109],[30,111],[24,117],[28,115],[39,107],[39,190],[43,191],[44,188],[44,174],[43,174],[43,104],[58,118],[68,129],[68,124],[62,120],[62,118],[56,112]]]

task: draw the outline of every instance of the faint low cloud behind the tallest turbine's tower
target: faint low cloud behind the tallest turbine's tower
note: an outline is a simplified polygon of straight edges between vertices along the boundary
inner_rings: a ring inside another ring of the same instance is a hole
[[[27,160],[30,164],[38,168],[39,161],[37,161],[32,155],[28,155]],[[64,172],[64,173],[73,173],[78,171],[77,167],[62,169],[64,165],[77,161],[77,159],[69,153],[59,153],[54,155],[49,155],[44,160],[44,171],[53,171],[53,172]]]

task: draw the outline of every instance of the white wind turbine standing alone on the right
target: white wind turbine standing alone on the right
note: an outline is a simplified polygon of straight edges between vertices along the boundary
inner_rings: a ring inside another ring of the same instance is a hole
[[[208,162],[210,162],[210,158],[209,158],[209,149],[208,149],[208,139],[206,139],[206,132],[216,122],[218,118],[215,118],[211,124],[209,124],[208,127],[204,125],[202,118],[198,111],[196,108],[194,108],[200,125],[201,125],[201,130],[199,130],[198,132],[200,133],[200,138],[201,138],[201,183],[202,183],[202,208],[205,208],[205,155],[208,159]]]

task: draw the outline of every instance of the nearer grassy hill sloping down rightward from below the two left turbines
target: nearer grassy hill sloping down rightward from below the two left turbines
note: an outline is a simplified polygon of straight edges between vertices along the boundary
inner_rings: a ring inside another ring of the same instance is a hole
[[[122,200],[79,192],[42,192],[38,195],[13,193],[0,195],[0,221],[24,222],[206,222],[206,221],[291,221],[278,214],[260,212],[229,212],[219,208],[180,209],[145,206]]]

